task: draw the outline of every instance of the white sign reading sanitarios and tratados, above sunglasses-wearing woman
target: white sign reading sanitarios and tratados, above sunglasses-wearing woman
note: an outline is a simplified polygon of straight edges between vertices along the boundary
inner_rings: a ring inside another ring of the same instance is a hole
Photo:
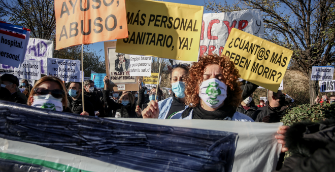
[[[17,78],[39,80],[41,78],[41,63],[36,60],[24,60],[19,68],[14,68]]]

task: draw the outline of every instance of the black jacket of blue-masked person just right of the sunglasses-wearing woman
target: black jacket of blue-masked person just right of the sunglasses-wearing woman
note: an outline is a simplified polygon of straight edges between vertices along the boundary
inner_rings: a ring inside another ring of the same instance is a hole
[[[94,107],[90,101],[88,101],[88,97],[84,95],[84,103],[85,103],[85,111],[90,116],[95,116]],[[81,114],[83,112],[83,101],[82,95],[79,96],[78,99],[73,100],[72,97],[68,95],[68,106],[71,109],[72,113]]]

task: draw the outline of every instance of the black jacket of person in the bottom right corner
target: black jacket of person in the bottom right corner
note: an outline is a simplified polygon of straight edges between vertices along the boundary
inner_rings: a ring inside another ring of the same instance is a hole
[[[285,146],[292,156],[281,172],[335,171],[335,120],[295,123],[285,133]]]

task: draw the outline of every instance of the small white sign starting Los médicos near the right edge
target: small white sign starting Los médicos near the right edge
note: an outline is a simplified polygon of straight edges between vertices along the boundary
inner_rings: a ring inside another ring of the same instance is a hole
[[[332,80],[333,66],[313,66],[311,80]]]

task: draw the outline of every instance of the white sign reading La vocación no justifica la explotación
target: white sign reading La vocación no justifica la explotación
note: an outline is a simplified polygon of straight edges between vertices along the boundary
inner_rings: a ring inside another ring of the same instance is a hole
[[[64,81],[80,81],[80,60],[48,58],[48,75]]]

